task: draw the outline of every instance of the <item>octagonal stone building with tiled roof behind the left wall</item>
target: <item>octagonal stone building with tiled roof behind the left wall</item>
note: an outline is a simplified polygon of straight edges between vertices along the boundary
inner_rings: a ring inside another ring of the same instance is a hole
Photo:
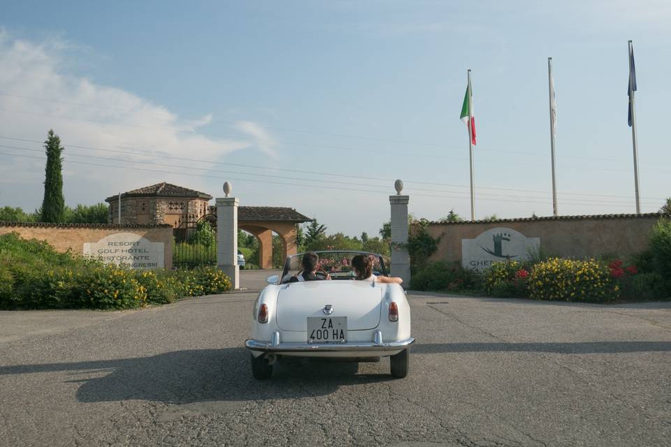
[[[183,186],[161,182],[121,194],[121,222],[119,196],[105,199],[110,204],[109,223],[159,225],[169,223],[177,227],[185,217],[197,221],[208,214],[212,196]]]

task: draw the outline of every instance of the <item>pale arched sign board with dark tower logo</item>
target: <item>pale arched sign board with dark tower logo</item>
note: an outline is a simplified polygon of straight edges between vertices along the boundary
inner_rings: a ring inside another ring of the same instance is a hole
[[[482,270],[496,261],[528,259],[540,249],[540,237],[526,237],[511,228],[492,228],[475,239],[461,240],[461,265]]]

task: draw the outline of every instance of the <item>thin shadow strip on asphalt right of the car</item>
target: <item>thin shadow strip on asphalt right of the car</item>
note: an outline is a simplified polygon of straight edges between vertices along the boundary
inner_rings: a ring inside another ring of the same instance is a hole
[[[671,351],[671,342],[566,342],[566,343],[433,343],[417,344],[412,353],[544,352],[560,354],[619,354]]]

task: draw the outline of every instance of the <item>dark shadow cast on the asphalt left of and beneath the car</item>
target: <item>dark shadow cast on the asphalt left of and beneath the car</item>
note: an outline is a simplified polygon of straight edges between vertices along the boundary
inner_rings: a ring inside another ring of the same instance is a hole
[[[382,368],[380,374],[357,374],[355,362],[299,360],[279,362],[272,379],[256,381],[249,356],[243,348],[174,351],[143,358],[3,366],[0,376],[62,372],[64,382],[80,383],[79,402],[175,404],[315,397],[340,386],[392,380]]]

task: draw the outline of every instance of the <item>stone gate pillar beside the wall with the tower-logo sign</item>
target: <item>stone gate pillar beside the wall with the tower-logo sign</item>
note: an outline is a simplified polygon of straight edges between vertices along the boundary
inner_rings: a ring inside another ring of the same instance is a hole
[[[410,196],[401,196],[403,182],[394,183],[396,196],[391,204],[391,275],[403,278],[403,287],[410,287],[410,255],[407,253],[407,203]]]

